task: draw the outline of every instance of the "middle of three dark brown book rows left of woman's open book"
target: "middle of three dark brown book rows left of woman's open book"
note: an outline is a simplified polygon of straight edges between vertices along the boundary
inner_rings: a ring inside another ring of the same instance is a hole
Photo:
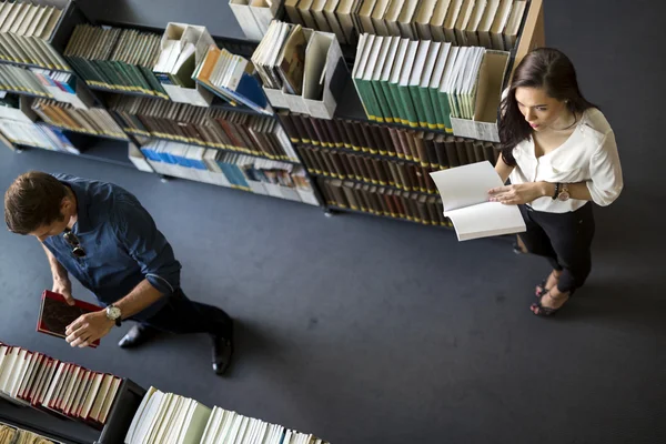
[[[383,161],[319,148],[299,148],[305,167],[314,174],[345,179],[371,185],[392,186],[403,191],[436,194],[437,188],[430,176],[430,167],[414,163]]]

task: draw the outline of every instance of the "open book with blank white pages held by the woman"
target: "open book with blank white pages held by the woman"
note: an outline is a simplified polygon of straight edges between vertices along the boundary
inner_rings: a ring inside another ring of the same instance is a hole
[[[440,190],[444,215],[453,222],[458,241],[526,230],[516,205],[488,202],[488,190],[503,185],[490,162],[436,171],[431,176]]]

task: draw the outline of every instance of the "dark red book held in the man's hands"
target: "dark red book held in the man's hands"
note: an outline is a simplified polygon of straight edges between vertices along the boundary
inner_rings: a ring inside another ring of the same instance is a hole
[[[37,321],[37,331],[57,337],[67,337],[67,326],[79,316],[97,312],[101,307],[84,301],[74,300],[74,305],[69,305],[62,294],[44,290],[42,293],[41,309]],[[100,341],[90,344],[91,347],[100,345]]]

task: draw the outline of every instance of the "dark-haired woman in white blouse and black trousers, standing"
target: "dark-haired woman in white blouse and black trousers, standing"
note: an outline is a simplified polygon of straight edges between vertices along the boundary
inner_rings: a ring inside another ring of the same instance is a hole
[[[613,129],[583,98],[571,60],[539,48],[514,72],[501,104],[502,155],[495,170],[511,185],[490,200],[519,205],[531,253],[548,259],[532,312],[555,313],[587,279],[594,236],[592,202],[606,206],[623,189]]]

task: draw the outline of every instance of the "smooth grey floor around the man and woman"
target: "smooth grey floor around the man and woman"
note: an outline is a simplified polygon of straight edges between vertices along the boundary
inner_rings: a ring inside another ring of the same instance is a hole
[[[653,2],[656,3],[656,2]],[[626,189],[596,212],[588,285],[533,316],[547,273],[503,241],[305,205],[49,152],[0,150],[0,189],[28,169],[114,181],[153,213],[191,297],[242,325],[229,379],[205,337],[137,352],[34,333],[47,262],[0,230],[0,340],[305,432],[357,443],[662,443],[666,198],[663,13],[650,2],[548,2],[548,43],[615,128]],[[660,266],[662,265],[662,266]],[[88,297],[78,289],[77,296]]]

